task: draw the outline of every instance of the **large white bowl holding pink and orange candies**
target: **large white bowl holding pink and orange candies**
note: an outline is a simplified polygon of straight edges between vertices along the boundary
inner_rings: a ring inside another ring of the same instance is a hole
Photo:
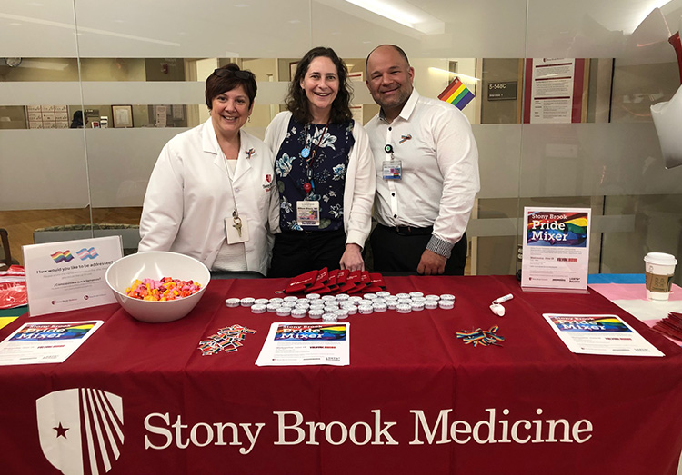
[[[161,279],[172,277],[182,281],[192,280],[201,289],[189,297],[173,301],[143,301],[125,295],[135,279]],[[142,322],[173,322],[183,318],[201,299],[211,272],[196,259],[176,252],[139,252],[119,259],[106,270],[106,283],[114,291],[116,300],[135,319]]]

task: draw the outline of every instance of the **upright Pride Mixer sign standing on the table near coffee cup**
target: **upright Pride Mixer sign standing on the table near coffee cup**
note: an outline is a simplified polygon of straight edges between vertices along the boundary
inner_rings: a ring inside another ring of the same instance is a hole
[[[586,291],[589,208],[524,208],[521,287]]]

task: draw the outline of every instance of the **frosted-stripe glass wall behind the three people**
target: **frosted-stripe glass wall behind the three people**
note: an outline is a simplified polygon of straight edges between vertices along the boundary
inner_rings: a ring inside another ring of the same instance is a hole
[[[464,109],[482,183],[467,272],[517,272],[527,205],[591,207],[590,272],[682,256],[682,167],[666,169],[649,111],[680,85],[667,39],[682,0],[386,1],[3,2],[0,227],[15,258],[45,228],[138,223],[161,148],[208,117],[216,66],[256,74],[247,127],[262,138],[316,45],[344,57],[366,123],[378,107],[365,58],[385,43],[406,50],[420,94],[436,97],[454,73],[476,94]],[[542,96],[544,66],[566,71],[567,100]],[[84,127],[70,128],[78,111]]]

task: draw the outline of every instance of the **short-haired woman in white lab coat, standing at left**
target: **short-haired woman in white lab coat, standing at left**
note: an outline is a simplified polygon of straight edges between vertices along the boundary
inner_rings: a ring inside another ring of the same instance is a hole
[[[145,194],[139,252],[180,252],[213,271],[266,274],[279,196],[270,149],[241,130],[255,97],[254,74],[236,64],[208,76],[211,117],[161,151]]]

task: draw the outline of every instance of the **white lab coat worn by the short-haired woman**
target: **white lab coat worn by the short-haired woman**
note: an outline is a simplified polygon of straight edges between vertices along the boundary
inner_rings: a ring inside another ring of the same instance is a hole
[[[226,239],[225,218],[232,223],[236,206],[248,223],[246,268],[266,274],[268,235],[279,230],[274,158],[265,143],[243,130],[239,134],[232,183],[210,118],[165,144],[145,194],[139,252],[180,252],[210,269]],[[249,150],[254,151],[250,158]]]

